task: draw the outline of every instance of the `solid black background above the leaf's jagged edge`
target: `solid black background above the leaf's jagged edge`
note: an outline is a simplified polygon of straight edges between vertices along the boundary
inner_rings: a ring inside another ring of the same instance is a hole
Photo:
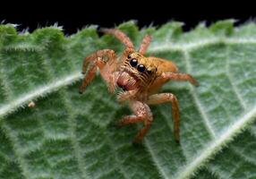
[[[159,26],[166,21],[183,21],[183,30],[191,30],[200,21],[207,25],[214,21],[235,19],[236,25],[254,21],[256,7],[250,2],[226,1],[34,1],[1,5],[0,21],[19,24],[18,30],[33,31],[58,22],[65,34],[75,33],[89,24],[115,27],[124,21],[136,20],[139,27]]]

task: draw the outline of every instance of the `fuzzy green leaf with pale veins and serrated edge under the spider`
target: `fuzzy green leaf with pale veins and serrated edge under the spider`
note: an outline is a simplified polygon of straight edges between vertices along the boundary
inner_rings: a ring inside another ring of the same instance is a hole
[[[256,24],[182,23],[124,30],[138,47],[153,35],[148,55],[173,60],[200,87],[172,81],[181,107],[181,143],[174,141],[170,105],[151,107],[152,127],[132,146],[140,125],[116,129],[128,107],[97,77],[78,94],[84,56],[124,47],[98,38],[95,27],[70,37],[57,27],[33,33],[0,26],[0,178],[255,178]],[[35,107],[28,107],[33,101]]]

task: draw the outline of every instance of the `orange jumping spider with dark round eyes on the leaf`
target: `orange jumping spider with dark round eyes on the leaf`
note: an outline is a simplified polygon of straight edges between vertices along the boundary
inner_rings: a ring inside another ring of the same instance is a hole
[[[134,115],[124,116],[118,125],[144,122],[144,127],[138,132],[133,142],[141,141],[149,131],[153,121],[149,105],[170,102],[174,118],[175,141],[179,142],[180,116],[177,98],[172,93],[156,93],[169,80],[190,81],[192,84],[197,84],[197,81],[190,74],[178,73],[178,68],[171,61],[144,56],[151,39],[149,35],[142,39],[141,47],[135,51],[131,39],[121,30],[101,29],[100,31],[114,35],[126,48],[120,60],[111,49],[98,50],[88,55],[82,66],[82,73],[88,72],[82,81],[80,93],[92,81],[98,69],[111,93],[115,91],[116,85],[122,88],[123,91],[118,94],[117,99],[119,102],[128,101]]]

